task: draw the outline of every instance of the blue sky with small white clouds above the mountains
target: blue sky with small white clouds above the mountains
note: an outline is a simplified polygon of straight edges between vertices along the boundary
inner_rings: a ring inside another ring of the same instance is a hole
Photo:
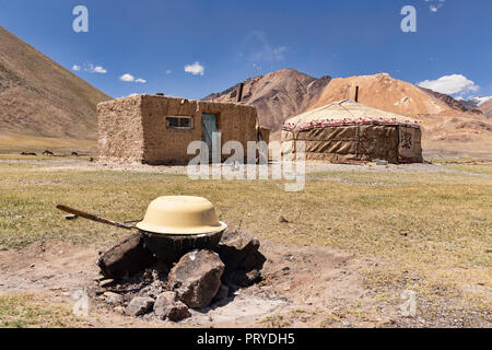
[[[79,4],[89,33],[72,30]],[[283,68],[491,95],[491,13],[490,0],[0,0],[1,26],[114,97],[201,98]]]

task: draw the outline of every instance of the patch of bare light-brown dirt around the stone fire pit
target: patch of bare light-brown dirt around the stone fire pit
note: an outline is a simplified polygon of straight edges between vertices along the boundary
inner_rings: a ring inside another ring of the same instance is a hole
[[[279,313],[315,318],[319,307],[347,307],[364,294],[358,271],[367,261],[328,248],[263,242],[268,260],[262,281],[179,324],[127,317],[97,298],[91,299],[86,326],[94,327],[263,327],[277,326]],[[78,291],[97,285],[97,247],[34,244],[22,250],[0,252],[0,294],[48,295],[52,304],[72,305]],[[294,317],[296,318],[296,317]],[[293,319],[290,326],[314,326]],[[313,319],[314,320],[314,319]]]

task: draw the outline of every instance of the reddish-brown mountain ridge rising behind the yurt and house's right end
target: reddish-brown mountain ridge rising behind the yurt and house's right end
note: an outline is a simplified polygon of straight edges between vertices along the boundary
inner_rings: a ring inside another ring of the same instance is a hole
[[[237,86],[206,98],[235,101]],[[492,153],[492,121],[480,110],[468,110],[448,95],[394,79],[387,73],[318,80],[295,70],[281,70],[246,80],[245,86],[243,101],[256,105],[260,124],[273,131],[281,128],[283,120],[302,112],[354,98],[355,86],[359,86],[359,102],[421,121],[424,148],[434,153]],[[273,133],[274,138],[279,138],[279,132]]]

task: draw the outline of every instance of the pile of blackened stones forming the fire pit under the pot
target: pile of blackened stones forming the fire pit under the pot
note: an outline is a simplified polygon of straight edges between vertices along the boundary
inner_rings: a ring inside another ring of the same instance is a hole
[[[147,243],[136,233],[97,259],[96,296],[128,316],[179,322],[191,316],[189,308],[206,308],[261,280],[260,243],[243,231],[226,230],[216,247],[184,253],[174,264],[156,257]]]

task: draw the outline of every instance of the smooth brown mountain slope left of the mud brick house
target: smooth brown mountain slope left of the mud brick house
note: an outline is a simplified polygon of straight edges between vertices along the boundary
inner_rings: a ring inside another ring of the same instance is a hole
[[[0,136],[95,139],[110,98],[0,27]]]

